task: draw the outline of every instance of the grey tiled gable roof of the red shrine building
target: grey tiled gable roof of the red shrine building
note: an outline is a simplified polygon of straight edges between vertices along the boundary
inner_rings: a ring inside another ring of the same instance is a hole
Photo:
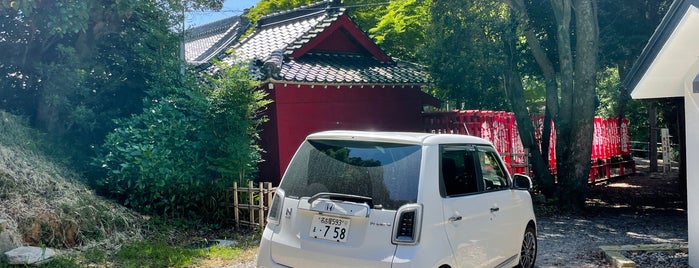
[[[229,37],[233,36],[230,34],[233,22],[227,22]],[[335,49],[328,45],[337,37],[346,40],[350,48]],[[219,54],[225,62],[249,63],[250,72],[259,80],[333,84],[427,83],[427,75],[420,66],[388,57],[351,22],[337,0],[321,1],[262,17],[248,37],[217,51],[230,51],[229,54]],[[212,53],[202,55],[205,54]],[[195,65],[201,61],[190,61],[190,58],[204,59],[187,55],[188,62]]]

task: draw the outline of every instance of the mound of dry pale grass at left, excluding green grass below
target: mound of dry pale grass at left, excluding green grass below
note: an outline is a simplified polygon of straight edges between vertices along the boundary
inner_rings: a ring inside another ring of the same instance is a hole
[[[118,244],[141,236],[142,220],[95,195],[59,161],[28,120],[0,111],[0,218],[17,244],[56,248]]]

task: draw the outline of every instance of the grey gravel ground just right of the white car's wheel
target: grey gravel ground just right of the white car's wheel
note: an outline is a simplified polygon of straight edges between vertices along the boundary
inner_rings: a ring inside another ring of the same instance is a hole
[[[539,217],[538,223],[537,267],[609,267],[599,246],[687,244],[687,214],[677,211]]]

